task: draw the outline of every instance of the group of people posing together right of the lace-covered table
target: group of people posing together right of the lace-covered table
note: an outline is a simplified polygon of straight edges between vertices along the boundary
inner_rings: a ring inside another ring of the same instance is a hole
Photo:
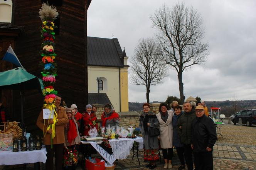
[[[165,161],[163,168],[171,169],[175,147],[181,163],[179,170],[185,169],[186,165],[188,170],[194,169],[192,154],[196,170],[213,169],[212,147],[217,135],[208,109],[204,101],[184,102],[183,109],[177,101],[171,103],[170,110],[166,103],[161,103],[159,113],[155,114],[148,103],[143,104],[139,127],[143,135],[144,160],[148,161],[146,167],[157,167],[161,148]]]

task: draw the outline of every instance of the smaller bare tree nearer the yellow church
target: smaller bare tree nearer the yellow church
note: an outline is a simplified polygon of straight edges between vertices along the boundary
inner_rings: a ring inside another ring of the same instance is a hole
[[[131,58],[130,78],[136,85],[146,86],[149,103],[150,86],[157,85],[167,77],[167,65],[161,58],[161,50],[153,38],[139,40]]]

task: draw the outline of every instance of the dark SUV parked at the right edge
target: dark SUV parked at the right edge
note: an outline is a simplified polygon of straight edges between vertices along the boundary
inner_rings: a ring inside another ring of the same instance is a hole
[[[238,123],[239,118],[242,119],[242,123],[247,126],[256,125],[256,109],[240,110],[235,113],[236,115],[233,118],[234,125]]]

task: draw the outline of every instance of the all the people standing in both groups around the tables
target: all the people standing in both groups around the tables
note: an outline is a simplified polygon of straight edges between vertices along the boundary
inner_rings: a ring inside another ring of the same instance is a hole
[[[97,119],[97,108],[86,105],[84,113],[79,113],[76,104],[70,108],[60,106],[61,96],[56,96],[57,120],[43,119],[41,110],[37,119],[37,126],[44,132],[44,145],[47,150],[46,169],[54,169],[53,157],[55,155],[55,169],[75,170],[79,160],[80,136],[89,136],[91,128],[98,129],[108,125],[119,125],[118,113],[110,104],[104,106],[101,119]],[[196,106],[197,105],[197,106]],[[204,102],[185,102],[183,107],[177,101],[161,103],[159,113],[150,110],[148,103],[143,104],[143,113],[140,116],[139,128],[143,136],[144,160],[146,167],[154,169],[159,159],[159,149],[162,149],[164,169],[172,168],[173,148],[177,150],[180,160],[179,170],[193,170],[192,154],[197,170],[213,169],[212,147],[217,140],[214,122]],[[184,110],[183,110],[184,109]],[[207,114],[208,113],[208,114]],[[52,139],[52,129],[48,125],[56,124],[56,136]],[[107,152],[111,152],[108,142],[101,144]],[[185,160],[184,160],[185,157]]]

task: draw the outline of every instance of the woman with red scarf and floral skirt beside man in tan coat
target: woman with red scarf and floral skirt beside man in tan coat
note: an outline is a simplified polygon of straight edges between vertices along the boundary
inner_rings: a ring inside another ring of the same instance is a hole
[[[63,151],[62,166],[63,169],[75,170],[78,162],[78,145],[80,145],[80,136],[76,118],[70,108],[66,108],[69,123],[65,125],[65,143]]]

